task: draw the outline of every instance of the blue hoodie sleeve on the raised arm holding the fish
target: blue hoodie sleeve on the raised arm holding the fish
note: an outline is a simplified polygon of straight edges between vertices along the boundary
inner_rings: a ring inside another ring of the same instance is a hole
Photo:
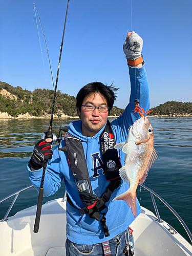
[[[148,80],[145,71],[145,65],[141,68],[129,67],[130,82],[131,82],[131,95],[130,102],[126,106],[122,116],[114,120],[112,128],[116,133],[116,142],[125,142],[129,127],[135,122],[136,119],[140,118],[138,113],[134,114],[135,103],[134,100],[139,100],[139,105],[145,111],[150,109],[150,97],[148,89]],[[133,115],[134,114],[134,115]]]

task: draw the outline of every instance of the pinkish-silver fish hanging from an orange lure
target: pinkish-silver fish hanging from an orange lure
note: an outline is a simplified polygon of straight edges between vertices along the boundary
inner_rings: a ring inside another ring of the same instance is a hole
[[[114,148],[122,149],[125,153],[125,165],[119,169],[119,174],[122,180],[130,185],[125,193],[114,200],[124,200],[136,218],[137,186],[146,180],[148,170],[157,158],[153,127],[148,118],[142,115],[140,119],[137,119],[130,126],[126,141],[116,144]]]

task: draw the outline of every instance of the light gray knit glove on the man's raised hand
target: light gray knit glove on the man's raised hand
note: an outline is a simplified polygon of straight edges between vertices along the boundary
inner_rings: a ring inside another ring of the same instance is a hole
[[[143,39],[134,31],[129,36],[126,36],[123,45],[123,51],[126,55],[126,59],[138,59],[141,56],[141,51],[143,47]]]

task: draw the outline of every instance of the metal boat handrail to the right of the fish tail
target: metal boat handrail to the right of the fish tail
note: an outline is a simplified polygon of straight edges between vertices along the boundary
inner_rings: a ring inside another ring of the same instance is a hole
[[[158,222],[162,222],[161,218],[160,218],[160,215],[159,215],[159,211],[158,211],[158,208],[157,208],[157,204],[155,202],[155,199],[154,199],[154,196],[156,196],[161,202],[163,202],[167,208],[173,212],[173,214],[176,216],[176,218],[179,220],[179,222],[181,223],[181,225],[183,226],[183,228],[185,229],[189,239],[190,239],[190,242],[192,244],[192,234],[190,232],[190,230],[188,229],[187,225],[185,224],[185,222],[182,220],[182,218],[178,215],[178,213],[172,208],[172,206],[170,206],[162,197],[160,197],[157,193],[155,193],[151,188],[148,188],[146,187],[145,185],[141,185],[142,187],[144,187],[146,190],[150,191],[150,194],[151,194],[151,197],[152,197],[152,202],[153,202],[153,205],[154,205],[154,208],[155,208],[155,212],[156,212],[156,215],[157,215],[157,218],[158,218]],[[154,196],[153,196],[154,195]]]

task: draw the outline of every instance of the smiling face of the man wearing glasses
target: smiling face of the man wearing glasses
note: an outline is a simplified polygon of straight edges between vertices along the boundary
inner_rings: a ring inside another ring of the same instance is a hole
[[[99,93],[84,97],[82,105],[108,106],[106,99]],[[100,113],[98,109],[89,112],[84,109],[84,106],[81,106],[79,115],[82,121],[82,134],[87,137],[94,137],[94,135],[102,129],[108,119],[108,112]]]

